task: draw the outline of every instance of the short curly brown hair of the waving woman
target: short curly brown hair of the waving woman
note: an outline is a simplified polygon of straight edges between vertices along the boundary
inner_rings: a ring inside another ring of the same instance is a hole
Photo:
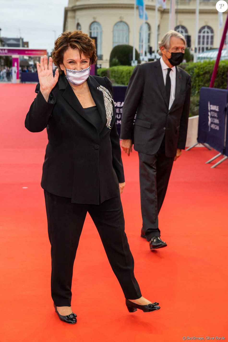
[[[63,64],[64,53],[69,48],[78,49],[80,58],[82,54],[90,58],[90,64],[96,63],[96,47],[93,40],[85,33],[82,33],[82,31],[65,31],[56,39],[52,53],[52,60],[58,66],[59,74],[63,73],[60,64]]]

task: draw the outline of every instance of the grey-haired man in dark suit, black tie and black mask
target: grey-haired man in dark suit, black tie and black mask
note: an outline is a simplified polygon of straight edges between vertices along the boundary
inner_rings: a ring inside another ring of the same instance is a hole
[[[185,47],[181,34],[167,32],[159,42],[161,58],[134,69],[123,106],[121,146],[130,155],[134,136],[139,156],[141,236],[149,241],[151,250],[167,246],[160,238],[158,214],[173,161],[185,149],[191,78],[177,67],[183,61]]]

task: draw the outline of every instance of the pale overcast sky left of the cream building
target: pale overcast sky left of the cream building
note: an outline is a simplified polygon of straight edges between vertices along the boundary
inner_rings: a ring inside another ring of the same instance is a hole
[[[0,0],[1,37],[19,38],[20,30],[29,48],[50,53],[55,35],[57,38],[63,32],[67,5],[68,0]]]

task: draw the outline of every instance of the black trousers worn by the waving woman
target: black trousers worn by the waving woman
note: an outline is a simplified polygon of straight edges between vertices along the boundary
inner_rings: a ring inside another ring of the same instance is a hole
[[[134,259],[124,232],[120,196],[100,205],[71,203],[71,198],[55,196],[45,190],[44,197],[51,243],[51,294],[54,304],[71,305],[73,264],[87,212],[98,230],[125,298],[140,298],[142,294],[134,276]]]

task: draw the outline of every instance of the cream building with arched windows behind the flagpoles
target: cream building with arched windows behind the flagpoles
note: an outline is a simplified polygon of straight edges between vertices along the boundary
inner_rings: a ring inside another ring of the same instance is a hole
[[[146,52],[155,50],[155,0],[146,1],[148,20],[145,25]],[[216,0],[201,0],[199,11],[199,52],[218,48],[223,29],[218,26]],[[158,37],[169,30],[170,0],[166,9],[158,8]],[[223,13],[225,23],[226,12]],[[176,0],[175,30],[185,37],[191,36],[191,47],[195,47],[196,1]],[[224,27],[224,24],[223,24]],[[81,29],[90,37],[97,38],[98,61],[102,67],[109,67],[109,56],[113,47],[119,44],[133,46],[134,0],[69,0],[64,13],[64,31]],[[226,37],[225,43],[228,43]],[[143,20],[136,13],[136,49],[143,49]]]

